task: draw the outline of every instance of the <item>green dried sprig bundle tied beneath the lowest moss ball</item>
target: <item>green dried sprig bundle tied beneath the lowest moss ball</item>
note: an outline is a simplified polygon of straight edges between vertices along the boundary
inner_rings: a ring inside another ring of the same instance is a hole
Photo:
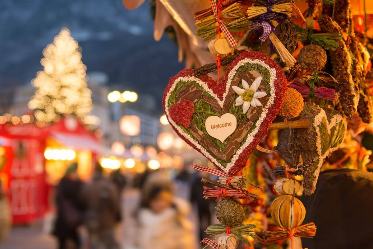
[[[222,224],[215,224],[209,225],[205,232],[209,234],[209,236],[220,236],[226,234],[228,232],[227,230],[229,230],[230,233],[237,236],[240,240],[242,240],[242,242],[244,242],[248,246],[251,246],[251,243],[248,242],[248,240],[245,239],[244,236],[253,237],[255,241],[258,241],[255,237],[255,232],[253,231],[253,228],[256,228],[256,225],[247,224],[241,225],[239,227],[229,227],[229,229],[227,229],[227,227]]]

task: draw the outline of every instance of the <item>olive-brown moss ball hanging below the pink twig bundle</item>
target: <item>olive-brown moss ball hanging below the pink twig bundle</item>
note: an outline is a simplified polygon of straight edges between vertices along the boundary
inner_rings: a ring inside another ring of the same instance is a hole
[[[242,205],[231,198],[220,198],[215,209],[216,218],[227,227],[237,227],[246,218]]]

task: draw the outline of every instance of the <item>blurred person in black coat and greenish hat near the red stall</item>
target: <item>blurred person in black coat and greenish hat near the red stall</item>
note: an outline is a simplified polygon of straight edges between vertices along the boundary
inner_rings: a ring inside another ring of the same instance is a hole
[[[84,205],[79,192],[83,183],[76,173],[77,168],[76,163],[70,165],[57,186],[57,218],[53,235],[58,239],[59,249],[80,248],[81,245],[78,226],[83,221]]]

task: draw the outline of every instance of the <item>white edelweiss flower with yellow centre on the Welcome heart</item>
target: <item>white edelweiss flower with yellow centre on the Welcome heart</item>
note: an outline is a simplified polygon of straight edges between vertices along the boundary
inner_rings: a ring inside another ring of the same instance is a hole
[[[239,88],[235,85],[232,86],[233,91],[235,91],[236,94],[239,95],[239,97],[236,98],[236,106],[242,105],[242,111],[244,113],[247,112],[247,110],[250,108],[250,106],[257,107],[261,106],[260,101],[258,98],[264,97],[267,95],[267,93],[264,93],[262,91],[257,91],[258,87],[261,82],[261,77],[258,77],[254,80],[253,84],[249,86],[245,80],[242,80],[242,88]]]

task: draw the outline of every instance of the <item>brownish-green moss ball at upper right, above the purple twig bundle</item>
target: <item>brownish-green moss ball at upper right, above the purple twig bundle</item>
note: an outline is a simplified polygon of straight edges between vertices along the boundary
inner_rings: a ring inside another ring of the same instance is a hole
[[[300,50],[297,60],[306,69],[321,70],[326,64],[326,52],[319,45],[306,45]]]

